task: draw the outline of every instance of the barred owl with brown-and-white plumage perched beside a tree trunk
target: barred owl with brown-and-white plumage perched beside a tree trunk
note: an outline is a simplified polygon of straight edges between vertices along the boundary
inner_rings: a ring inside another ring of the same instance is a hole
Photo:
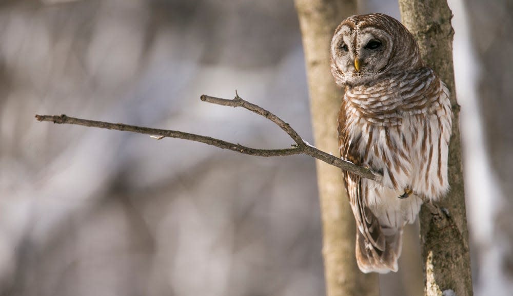
[[[331,40],[331,73],[345,95],[338,131],[342,158],[379,172],[343,172],[357,224],[363,272],[397,271],[403,227],[421,197],[448,190],[449,91],[426,67],[411,33],[385,14],[345,19]]]

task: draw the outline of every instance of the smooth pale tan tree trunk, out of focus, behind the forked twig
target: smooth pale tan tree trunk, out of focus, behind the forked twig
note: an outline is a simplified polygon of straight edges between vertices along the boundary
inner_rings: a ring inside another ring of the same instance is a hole
[[[343,90],[330,74],[329,45],[336,27],[357,12],[357,1],[295,0],[310,94],[315,146],[339,156],[337,115]],[[377,274],[364,274],[354,257],[355,225],[339,168],[316,161],[329,296],[378,295]]]

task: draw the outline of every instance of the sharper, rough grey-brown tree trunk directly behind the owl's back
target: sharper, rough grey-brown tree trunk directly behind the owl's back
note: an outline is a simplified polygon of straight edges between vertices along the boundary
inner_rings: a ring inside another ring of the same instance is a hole
[[[468,230],[459,130],[460,106],[456,100],[452,67],[452,13],[446,0],[399,0],[403,24],[419,42],[423,60],[447,84],[453,113],[449,144],[450,191],[438,204],[445,217],[433,216],[423,206],[420,214],[426,295],[472,295]]]

